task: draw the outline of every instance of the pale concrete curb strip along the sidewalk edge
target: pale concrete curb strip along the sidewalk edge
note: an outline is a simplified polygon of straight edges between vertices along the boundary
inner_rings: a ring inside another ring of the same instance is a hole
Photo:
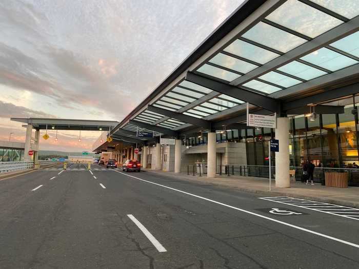
[[[159,174],[159,175],[166,175],[166,176],[171,176],[174,178],[179,178],[178,176],[181,176],[183,178],[186,178],[187,175],[182,175],[179,174],[177,175],[173,175],[173,174],[164,174],[164,172],[161,171],[153,171],[150,169],[146,169],[146,172],[152,172],[155,174]],[[187,179],[187,178],[186,178]],[[191,178],[188,178],[188,180],[191,180]],[[191,180],[192,181],[192,180]],[[195,182],[198,182],[197,180]],[[200,181],[201,183],[204,181]],[[337,204],[337,205],[343,205],[343,206],[349,206],[350,208],[359,208],[359,203],[357,202],[350,202],[350,201],[343,201],[343,200],[338,200],[338,199],[331,199],[331,198],[327,198],[327,197],[320,197],[320,196],[310,196],[310,195],[302,195],[302,194],[294,194],[294,193],[285,193],[285,192],[276,192],[276,191],[264,191],[264,190],[258,190],[258,189],[251,189],[251,188],[239,188],[239,187],[230,187],[228,185],[223,185],[223,184],[216,184],[213,182],[205,182],[206,184],[211,184],[220,188],[224,188],[224,189],[234,189],[241,191],[241,192],[247,192],[247,193],[255,193],[261,196],[289,196],[289,197],[293,197],[293,198],[300,198],[300,199],[306,199],[306,200],[314,200],[314,201],[318,201],[318,202],[325,202],[325,203],[333,203],[333,204]]]

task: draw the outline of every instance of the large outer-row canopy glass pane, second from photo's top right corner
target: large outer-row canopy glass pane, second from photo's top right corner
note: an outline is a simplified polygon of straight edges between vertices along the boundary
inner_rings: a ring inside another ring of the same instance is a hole
[[[288,0],[266,19],[312,38],[343,23],[297,0]]]

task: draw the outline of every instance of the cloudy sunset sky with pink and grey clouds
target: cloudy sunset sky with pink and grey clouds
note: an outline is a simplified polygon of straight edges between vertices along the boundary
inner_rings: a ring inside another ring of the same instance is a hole
[[[25,141],[10,117],[121,121],[242,2],[0,1],[0,140]],[[100,135],[48,134],[69,152]]]

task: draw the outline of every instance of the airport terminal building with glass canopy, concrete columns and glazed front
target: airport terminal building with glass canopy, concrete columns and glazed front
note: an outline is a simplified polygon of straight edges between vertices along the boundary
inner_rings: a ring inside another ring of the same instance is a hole
[[[275,138],[277,187],[289,187],[290,170],[307,160],[355,168],[358,15],[357,1],[245,1],[94,151],[165,171],[203,164],[214,177],[223,165],[260,173]],[[248,126],[247,108],[275,116],[275,127]]]

